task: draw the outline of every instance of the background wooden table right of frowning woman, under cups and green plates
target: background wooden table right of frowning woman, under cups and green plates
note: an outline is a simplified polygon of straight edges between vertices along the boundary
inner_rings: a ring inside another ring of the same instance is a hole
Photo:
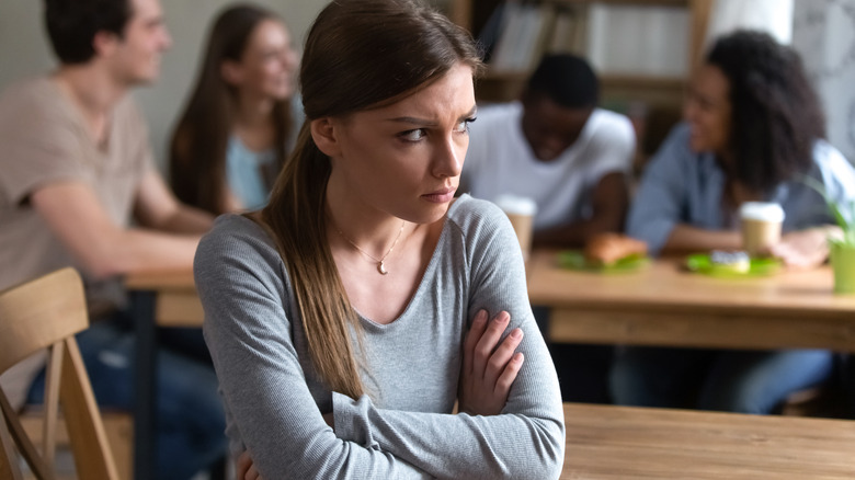
[[[528,297],[551,308],[558,342],[855,352],[855,295],[834,295],[830,267],[715,278],[658,260],[632,273],[560,268],[534,252]]]

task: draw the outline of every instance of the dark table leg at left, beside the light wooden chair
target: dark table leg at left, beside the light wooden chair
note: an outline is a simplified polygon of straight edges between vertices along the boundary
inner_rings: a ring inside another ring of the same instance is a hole
[[[136,331],[134,372],[134,479],[151,480],[157,471],[157,328],[153,292],[132,292]]]

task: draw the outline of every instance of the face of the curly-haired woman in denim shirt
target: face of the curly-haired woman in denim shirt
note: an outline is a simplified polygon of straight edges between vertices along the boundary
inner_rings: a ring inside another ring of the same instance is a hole
[[[689,84],[683,115],[694,151],[722,152],[730,141],[730,82],[716,66],[703,65]]]

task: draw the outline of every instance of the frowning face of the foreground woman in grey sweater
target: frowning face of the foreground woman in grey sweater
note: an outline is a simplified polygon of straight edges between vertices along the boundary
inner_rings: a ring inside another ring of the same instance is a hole
[[[334,142],[321,148],[332,159],[328,188],[365,212],[441,219],[457,190],[475,111],[472,70],[458,64],[391,105],[314,121],[329,123]]]

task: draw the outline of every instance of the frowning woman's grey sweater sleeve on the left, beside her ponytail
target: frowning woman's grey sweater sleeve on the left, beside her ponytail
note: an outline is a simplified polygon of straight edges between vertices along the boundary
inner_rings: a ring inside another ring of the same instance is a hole
[[[377,445],[335,436],[293,343],[278,254],[259,235],[248,233],[254,227],[249,220],[225,217],[217,224],[200,243],[194,265],[205,340],[231,416],[230,435],[240,436],[262,476],[430,478]]]

